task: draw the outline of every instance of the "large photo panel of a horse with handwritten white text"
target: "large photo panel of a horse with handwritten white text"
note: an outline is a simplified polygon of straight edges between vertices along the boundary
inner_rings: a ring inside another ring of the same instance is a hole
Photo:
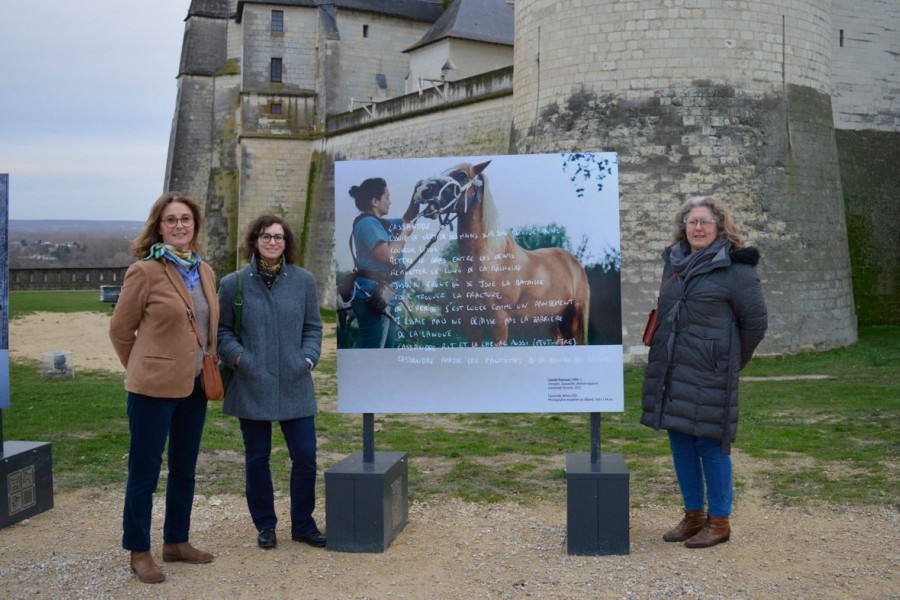
[[[614,153],[337,161],[335,257],[340,412],[624,410]]]

